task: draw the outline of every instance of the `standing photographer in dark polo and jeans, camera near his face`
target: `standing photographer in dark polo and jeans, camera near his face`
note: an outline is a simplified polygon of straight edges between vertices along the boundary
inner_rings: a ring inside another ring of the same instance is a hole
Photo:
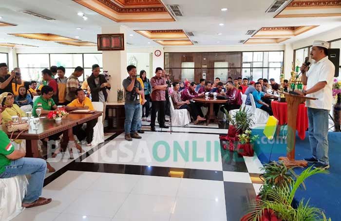
[[[137,133],[137,124],[140,120],[140,94],[144,94],[141,83],[136,80],[136,67],[129,65],[127,67],[129,77],[123,80],[123,88],[125,90],[124,110],[126,119],[124,120],[124,139],[133,141],[132,138],[141,139]]]

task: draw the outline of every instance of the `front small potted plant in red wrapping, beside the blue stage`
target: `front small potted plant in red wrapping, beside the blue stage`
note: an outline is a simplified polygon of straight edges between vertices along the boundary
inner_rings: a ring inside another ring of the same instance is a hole
[[[259,135],[251,136],[251,130],[246,129],[244,133],[237,135],[239,144],[237,146],[237,152],[242,156],[252,157],[254,154],[253,144],[259,138]]]

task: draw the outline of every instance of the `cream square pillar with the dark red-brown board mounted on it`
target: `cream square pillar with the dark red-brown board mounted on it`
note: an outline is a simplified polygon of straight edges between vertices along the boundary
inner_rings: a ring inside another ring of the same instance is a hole
[[[122,81],[128,76],[127,73],[127,35],[126,27],[122,25],[103,26],[102,34],[124,34],[124,51],[103,51],[103,71],[108,71],[111,76],[109,83],[111,90],[108,102],[117,102],[117,90],[123,89]]]

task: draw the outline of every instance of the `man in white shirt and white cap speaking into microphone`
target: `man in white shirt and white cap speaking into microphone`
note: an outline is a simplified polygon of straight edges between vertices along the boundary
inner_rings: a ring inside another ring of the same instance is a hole
[[[304,158],[313,163],[314,168],[329,168],[328,158],[328,114],[332,107],[332,88],[335,73],[334,64],[328,59],[329,43],[316,40],[311,47],[310,56],[315,62],[310,66],[305,62],[301,67],[302,82],[307,90],[300,92],[308,97],[305,106],[308,108],[309,142],[312,157]]]

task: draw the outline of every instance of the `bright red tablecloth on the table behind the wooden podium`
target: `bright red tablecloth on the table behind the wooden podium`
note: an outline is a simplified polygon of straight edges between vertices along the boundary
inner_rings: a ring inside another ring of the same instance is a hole
[[[278,125],[282,126],[287,124],[287,103],[279,101],[271,101],[271,107],[273,111],[273,116],[278,120]],[[308,128],[308,114],[305,104],[302,103],[299,106],[296,115],[296,130],[298,131],[301,140],[305,138],[305,131]]]

